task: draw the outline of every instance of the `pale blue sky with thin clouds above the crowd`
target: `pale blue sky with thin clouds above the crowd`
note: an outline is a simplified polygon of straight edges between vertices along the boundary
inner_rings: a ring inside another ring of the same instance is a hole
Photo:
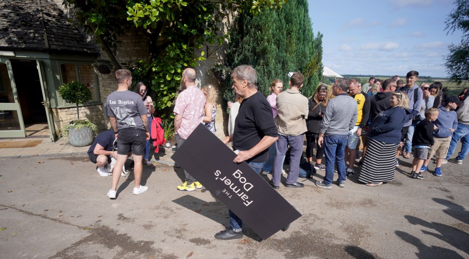
[[[448,77],[445,21],[453,0],[308,0],[313,32],[322,33],[322,63],[339,74]]]

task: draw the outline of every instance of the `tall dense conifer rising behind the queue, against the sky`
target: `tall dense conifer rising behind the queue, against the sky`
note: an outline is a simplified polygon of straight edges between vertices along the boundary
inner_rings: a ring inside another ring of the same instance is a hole
[[[270,94],[274,79],[288,88],[288,72],[305,75],[302,93],[311,96],[322,74],[322,35],[315,37],[306,0],[290,0],[280,10],[267,9],[257,16],[242,13],[235,20],[228,48],[228,65],[252,65],[257,70],[257,88]],[[229,82],[224,82],[225,100],[233,100]]]

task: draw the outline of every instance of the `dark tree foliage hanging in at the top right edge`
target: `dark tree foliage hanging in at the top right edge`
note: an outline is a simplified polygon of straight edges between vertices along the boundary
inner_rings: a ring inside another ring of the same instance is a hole
[[[469,1],[455,0],[453,4],[456,7],[448,14],[445,30],[447,34],[462,30],[464,35],[460,44],[448,46],[445,66],[450,80],[460,85],[469,80]]]

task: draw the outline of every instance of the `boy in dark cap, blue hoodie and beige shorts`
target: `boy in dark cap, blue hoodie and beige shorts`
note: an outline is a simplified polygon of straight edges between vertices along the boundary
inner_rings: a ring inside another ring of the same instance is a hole
[[[436,156],[436,168],[433,175],[441,176],[441,165],[448,153],[449,143],[451,142],[451,135],[458,128],[458,116],[454,109],[458,107],[461,102],[456,96],[448,96],[445,99],[446,105],[439,108],[440,113],[438,119],[433,122],[437,130],[433,131],[434,145],[430,148],[428,159],[426,159],[420,172],[428,170],[428,164],[433,155]]]

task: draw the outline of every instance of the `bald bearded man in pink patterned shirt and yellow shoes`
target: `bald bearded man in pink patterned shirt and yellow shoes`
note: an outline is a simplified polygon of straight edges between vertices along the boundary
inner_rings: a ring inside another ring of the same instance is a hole
[[[195,86],[195,70],[186,68],[182,72],[181,90],[174,105],[174,132],[176,132],[177,146],[181,147],[192,131],[202,122],[205,96]],[[195,188],[202,188],[192,175],[186,172],[186,181],[177,187],[179,191],[191,192]]]

